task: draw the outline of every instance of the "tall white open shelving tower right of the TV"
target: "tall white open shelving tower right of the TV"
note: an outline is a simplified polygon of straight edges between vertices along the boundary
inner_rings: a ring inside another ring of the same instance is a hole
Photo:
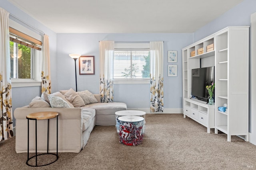
[[[248,141],[249,27],[228,27],[216,34],[215,133]],[[227,104],[226,112],[218,106]]]

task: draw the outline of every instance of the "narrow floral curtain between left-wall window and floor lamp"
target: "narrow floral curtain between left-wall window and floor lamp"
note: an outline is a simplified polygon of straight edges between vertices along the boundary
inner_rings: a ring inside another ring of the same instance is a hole
[[[49,49],[49,36],[44,35],[43,43],[43,59],[42,59],[42,93],[46,92],[51,94],[51,70],[50,70],[50,49]]]

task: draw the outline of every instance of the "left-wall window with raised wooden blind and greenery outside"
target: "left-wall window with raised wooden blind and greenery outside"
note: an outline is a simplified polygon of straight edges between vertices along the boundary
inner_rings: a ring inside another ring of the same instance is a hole
[[[13,87],[40,86],[41,37],[23,26],[10,21],[10,61]],[[14,26],[12,28],[11,26]],[[18,31],[20,29],[23,32]],[[26,34],[25,34],[26,33]]]

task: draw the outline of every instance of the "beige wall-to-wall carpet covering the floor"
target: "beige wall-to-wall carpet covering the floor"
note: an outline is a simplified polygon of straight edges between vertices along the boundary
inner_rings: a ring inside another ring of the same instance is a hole
[[[96,126],[80,153],[59,153],[57,162],[32,168],[15,152],[15,137],[0,143],[1,170],[253,170],[256,146],[206,127],[182,114],[147,114],[143,142],[119,143],[114,126]],[[46,158],[41,158],[45,161]]]

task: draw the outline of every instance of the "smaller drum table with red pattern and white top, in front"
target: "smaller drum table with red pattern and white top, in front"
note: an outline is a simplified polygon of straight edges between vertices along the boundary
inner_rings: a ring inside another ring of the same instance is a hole
[[[142,143],[144,118],[140,116],[121,116],[118,117],[119,142],[124,145],[134,146]]]

